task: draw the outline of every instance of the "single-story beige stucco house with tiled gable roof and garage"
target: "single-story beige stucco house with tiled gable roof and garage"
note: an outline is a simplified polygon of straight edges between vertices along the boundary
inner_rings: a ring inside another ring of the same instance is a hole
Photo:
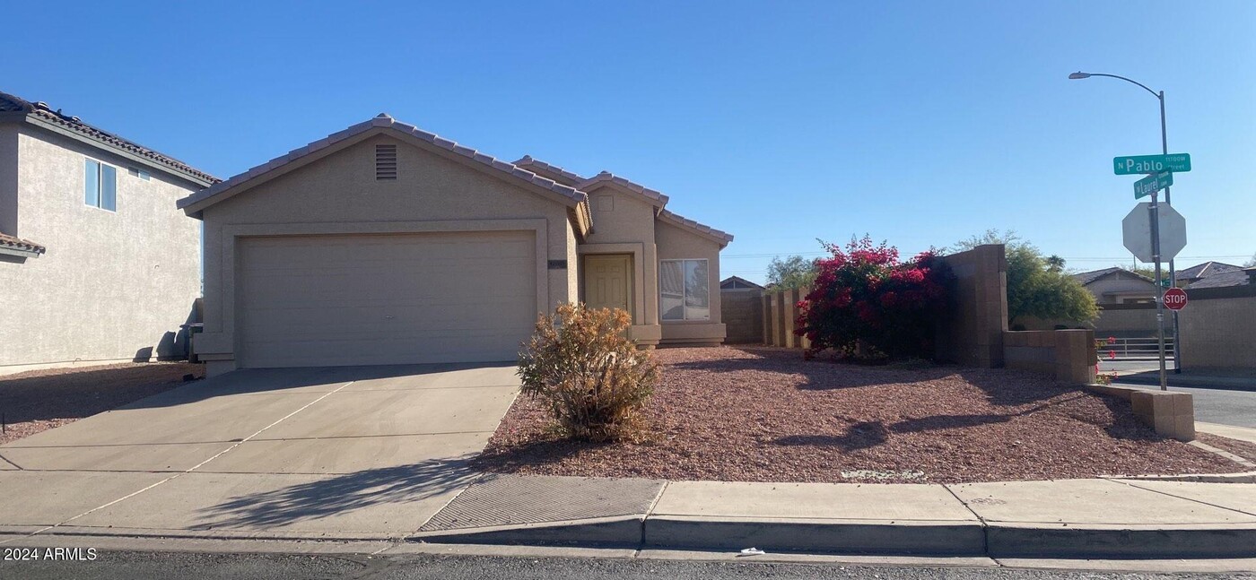
[[[514,360],[539,313],[720,344],[732,236],[603,172],[515,163],[381,114],[178,202],[205,225],[197,355],[236,368]]]

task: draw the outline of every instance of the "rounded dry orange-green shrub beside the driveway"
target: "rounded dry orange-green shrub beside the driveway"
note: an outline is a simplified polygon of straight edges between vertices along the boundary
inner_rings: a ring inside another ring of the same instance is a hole
[[[563,304],[541,315],[520,354],[522,392],[540,398],[559,431],[575,439],[641,434],[638,411],[654,392],[658,364],[627,338],[632,316],[619,309]]]

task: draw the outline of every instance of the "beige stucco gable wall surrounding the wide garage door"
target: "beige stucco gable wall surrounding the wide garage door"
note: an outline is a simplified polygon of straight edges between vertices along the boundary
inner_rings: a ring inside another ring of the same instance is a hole
[[[374,146],[397,144],[398,178],[376,181]],[[490,176],[437,153],[389,137],[371,134],[348,148],[244,191],[203,211],[205,221],[205,324],[197,336],[197,353],[211,360],[211,372],[234,367],[234,299],[231,262],[225,255],[234,245],[229,237],[247,230],[320,232],[345,223],[357,232],[432,231],[475,222],[514,221],[504,227],[524,228],[519,222],[541,223],[540,246],[545,281],[540,295],[544,306],[575,300],[577,265],[566,206],[530,190]],[[251,227],[246,227],[251,226]],[[281,227],[283,226],[283,227]],[[290,226],[290,227],[289,227]],[[422,230],[420,227],[423,227]],[[549,269],[549,260],[566,260],[568,267]]]

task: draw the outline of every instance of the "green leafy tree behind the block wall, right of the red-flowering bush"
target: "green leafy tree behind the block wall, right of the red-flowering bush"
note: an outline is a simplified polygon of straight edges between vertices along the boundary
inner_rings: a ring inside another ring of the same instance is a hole
[[[1020,316],[1085,323],[1099,316],[1093,294],[1064,271],[1064,259],[1042,256],[1015,231],[986,230],[961,240],[951,251],[1002,244],[1007,252],[1007,321]]]

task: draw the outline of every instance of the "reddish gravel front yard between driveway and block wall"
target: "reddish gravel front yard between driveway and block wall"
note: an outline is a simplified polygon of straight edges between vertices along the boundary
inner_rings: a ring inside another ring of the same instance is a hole
[[[555,439],[520,397],[481,470],[715,481],[1054,480],[1240,471],[1157,436],[1129,403],[1041,375],[804,362],[774,348],[659,349],[642,443]],[[845,472],[845,473],[844,473]]]

